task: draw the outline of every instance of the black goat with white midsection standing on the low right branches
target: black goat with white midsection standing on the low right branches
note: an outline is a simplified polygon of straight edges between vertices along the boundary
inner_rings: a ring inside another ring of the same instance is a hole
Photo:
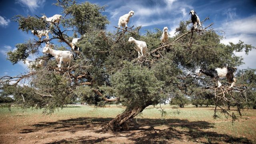
[[[220,88],[220,78],[226,77],[228,82],[231,83],[229,88],[232,88],[236,83],[236,78],[234,78],[234,74],[236,72],[236,67],[223,67],[223,68],[213,68],[210,70],[201,69],[198,73],[198,76],[205,74],[206,76],[210,76],[213,80],[218,82],[218,88]]]

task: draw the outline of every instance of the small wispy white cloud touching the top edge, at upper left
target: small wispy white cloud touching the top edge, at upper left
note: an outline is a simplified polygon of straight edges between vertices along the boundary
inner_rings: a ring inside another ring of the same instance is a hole
[[[27,7],[30,12],[34,12],[37,8],[44,6],[45,0],[16,0],[16,2]]]

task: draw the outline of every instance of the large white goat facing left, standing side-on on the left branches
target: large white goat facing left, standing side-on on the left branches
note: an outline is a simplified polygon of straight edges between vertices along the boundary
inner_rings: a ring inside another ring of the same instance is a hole
[[[55,57],[56,61],[58,62],[58,68],[61,67],[61,63],[63,62],[65,65],[68,63],[68,68],[70,67],[71,59],[73,55],[70,51],[67,50],[54,50],[49,47],[48,44],[43,49],[44,54],[51,54]]]

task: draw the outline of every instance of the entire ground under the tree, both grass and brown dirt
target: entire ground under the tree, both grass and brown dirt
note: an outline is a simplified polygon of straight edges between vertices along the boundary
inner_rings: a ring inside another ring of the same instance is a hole
[[[200,144],[256,143],[256,110],[243,110],[242,118],[232,124],[220,114],[213,119],[214,108],[149,106],[128,122],[130,130],[105,132],[103,126],[120,114],[123,106],[67,106],[52,115],[42,110],[0,108],[0,143],[36,144]],[[233,108],[231,112],[236,112]]]

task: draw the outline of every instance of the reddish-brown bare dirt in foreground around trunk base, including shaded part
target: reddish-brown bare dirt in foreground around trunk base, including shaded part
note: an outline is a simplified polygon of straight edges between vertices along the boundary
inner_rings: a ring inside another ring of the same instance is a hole
[[[4,116],[0,118],[0,144],[200,144],[251,143],[212,132],[210,122],[180,119],[136,119],[128,122],[130,130],[105,132],[103,126],[112,118],[58,116]],[[207,136],[207,138],[206,138]]]

